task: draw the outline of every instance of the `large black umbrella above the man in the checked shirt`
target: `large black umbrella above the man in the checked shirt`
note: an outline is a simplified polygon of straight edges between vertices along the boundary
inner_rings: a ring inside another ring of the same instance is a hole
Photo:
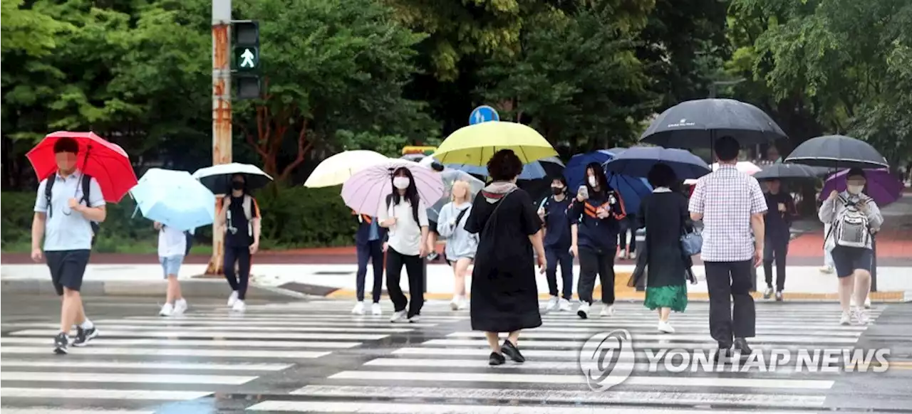
[[[788,137],[757,106],[734,99],[698,99],[666,109],[639,140],[665,147],[711,148],[719,136],[732,136],[741,146]]]

